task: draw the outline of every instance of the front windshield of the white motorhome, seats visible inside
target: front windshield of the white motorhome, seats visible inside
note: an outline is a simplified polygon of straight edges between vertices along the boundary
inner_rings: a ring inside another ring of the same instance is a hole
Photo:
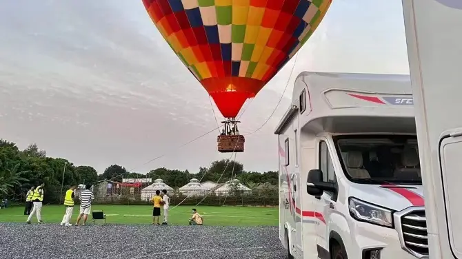
[[[422,184],[416,136],[336,136],[334,143],[355,183]]]

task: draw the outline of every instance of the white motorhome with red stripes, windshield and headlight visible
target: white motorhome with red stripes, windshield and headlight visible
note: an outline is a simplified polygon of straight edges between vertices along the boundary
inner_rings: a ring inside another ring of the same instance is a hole
[[[277,126],[289,258],[427,258],[410,77],[302,72]]]

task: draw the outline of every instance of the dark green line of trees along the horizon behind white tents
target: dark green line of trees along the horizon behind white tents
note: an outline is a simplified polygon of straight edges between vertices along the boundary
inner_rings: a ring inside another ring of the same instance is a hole
[[[177,189],[190,182],[192,178],[224,183],[237,178],[251,189],[258,185],[278,185],[278,172],[245,172],[241,163],[232,160],[216,160],[210,167],[199,167],[198,172],[167,169],[160,167],[148,174],[128,172],[121,165],[110,165],[103,174],[88,165],[74,165],[66,158],[51,158],[36,144],[19,149],[16,143],[0,139],[0,198],[19,197],[43,180],[46,184],[46,203],[58,203],[61,200],[61,188],[66,191],[70,185],[93,184],[99,180],[121,182],[122,178],[157,178]]]

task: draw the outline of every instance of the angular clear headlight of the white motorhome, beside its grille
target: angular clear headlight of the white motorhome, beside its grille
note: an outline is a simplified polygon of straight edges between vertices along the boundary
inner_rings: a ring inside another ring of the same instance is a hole
[[[390,209],[381,208],[356,198],[350,198],[348,209],[356,220],[384,227],[393,227],[392,211]]]

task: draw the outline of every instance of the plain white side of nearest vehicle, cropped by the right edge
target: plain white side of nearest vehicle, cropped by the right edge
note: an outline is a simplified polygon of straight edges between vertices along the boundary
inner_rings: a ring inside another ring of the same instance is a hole
[[[461,196],[460,163],[451,162],[441,172],[439,143],[444,132],[462,127],[461,28],[462,1],[403,0],[406,41],[416,111],[417,136],[426,199],[430,258],[462,258],[459,245],[450,237],[460,235],[454,225],[462,211],[448,208],[448,194]],[[449,149],[446,151],[449,152]],[[458,154],[458,149],[451,152]],[[446,156],[451,156],[446,154]],[[449,160],[451,161],[451,160]],[[445,179],[452,179],[449,185]],[[454,188],[451,190],[445,188]],[[450,213],[450,214],[449,214]],[[452,222],[448,220],[452,218]],[[460,244],[460,243],[459,243]]]

